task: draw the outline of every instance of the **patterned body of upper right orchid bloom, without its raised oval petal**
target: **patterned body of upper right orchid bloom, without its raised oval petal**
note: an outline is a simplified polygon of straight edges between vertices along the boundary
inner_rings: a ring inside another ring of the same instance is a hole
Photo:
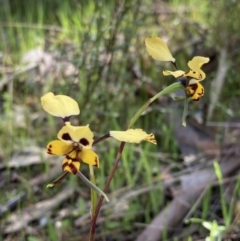
[[[186,95],[191,97],[194,101],[198,101],[204,94],[204,88],[199,83],[206,78],[206,74],[201,70],[203,64],[209,62],[209,58],[196,56],[188,62],[189,71],[163,71],[163,75],[173,75],[175,78],[180,78],[182,85],[185,88]]]

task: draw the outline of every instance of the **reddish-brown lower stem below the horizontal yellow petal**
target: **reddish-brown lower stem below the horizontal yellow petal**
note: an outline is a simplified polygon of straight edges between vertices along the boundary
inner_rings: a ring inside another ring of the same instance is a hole
[[[125,146],[125,142],[121,142],[121,144],[119,146],[119,149],[118,149],[117,157],[116,157],[115,162],[114,162],[113,169],[111,170],[110,175],[109,175],[109,177],[107,179],[106,185],[105,185],[105,187],[103,189],[104,193],[107,192],[107,190],[108,190],[108,188],[110,186],[110,183],[111,183],[111,181],[113,179],[113,176],[115,174],[115,171],[117,170],[118,163],[120,161],[120,157],[121,157],[121,154],[122,154],[124,146]],[[89,241],[93,241],[94,240],[94,234],[95,234],[95,229],[96,229],[96,221],[97,221],[97,217],[98,217],[98,214],[99,214],[101,206],[102,206],[103,199],[104,199],[104,196],[101,196],[99,198],[99,200],[98,200],[98,204],[97,204],[97,207],[96,207],[96,212],[95,212],[95,214],[93,216],[92,223],[91,223],[91,229],[90,229],[90,234],[89,234]]]

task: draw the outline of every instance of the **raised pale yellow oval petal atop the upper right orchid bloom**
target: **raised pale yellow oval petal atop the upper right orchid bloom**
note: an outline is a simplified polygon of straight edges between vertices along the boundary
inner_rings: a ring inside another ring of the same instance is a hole
[[[159,61],[170,61],[175,63],[166,43],[158,37],[149,37],[145,39],[145,45],[150,56]]]

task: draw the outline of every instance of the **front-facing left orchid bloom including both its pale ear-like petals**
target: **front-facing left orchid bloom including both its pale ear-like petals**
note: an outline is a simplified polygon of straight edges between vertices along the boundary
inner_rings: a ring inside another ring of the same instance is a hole
[[[53,140],[47,145],[48,154],[64,156],[62,162],[64,174],[50,183],[48,187],[59,183],[68,173],[82,175],[79,171],[81,163],[99,167],[98,155],[92,150],[94,134],[89,125],[73,126],[70,123],[71,116],[80,114],[77,102],[69,96],[54,95],[50,92],[42,96],[41,103],[46,112],[62,118],[64,123],[64,126],[57,134],[58,140]],[[129,143],[140,143],[145,140],[156,144],[154,135],[147,134],[142,129],[109,131],[105,135],[105,138],[107,137]]]

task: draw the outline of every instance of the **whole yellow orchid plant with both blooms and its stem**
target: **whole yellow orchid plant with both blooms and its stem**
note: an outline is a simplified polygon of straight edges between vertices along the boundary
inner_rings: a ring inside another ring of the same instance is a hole
[[[178,78],[179,81],[169,85],[164,90],[150,98],[130,120],[128,129],[126,131],[110,130],[104,136],[94,140],[94,134],[88,124],[84,126],[73,126],[70,122],[71,116],[80,114],[80,108],[75,100],[66,95],[54,95],[51,92],[42,96],[41,103],[43,109],[53,116],[60,117],[64,123],[63,127],[57,134],[58,139],[50,141],[46,148],[48,154],[63,156],[63,173],[56,180],[48,184],[47,187],[53,187],[55,184],[60,183],[68,174],[74,174],[79,176],[91,189],[103,195],[108,201],[106,194],[97,186],[95,186],[95,178],[92,178],[94,176],[93,167],[100,167],[99,157],[92,150],[94,145],[109,137],[122,142],[119,147],[119,152],[113,165],[112,171],[104,188],[104,191],[107,191],[115,173],[116,167],[118,166],[118,162],[120,160],[125,142],[140,143],[142,141],[148,141],[152,144],[156,144],[155,137],[152,133],[147,134],[142,129],[130,129],[154,100],[159,98],[161,95],[170,94],[179,89],[184,89],[185,105],[182,123],[183,125],[186,125],[186,110],[188,99],[191,98],[194,101],[198,101],[204,95],[204,88],[200,82],[206,78],[206,74],[201,68],[203,64],[209,62],[209,58],[196,56],[188,62],[189,70],[182,71],[177,69],[176,60],[162,39],[157,37],[150,37],[145,40],[145,44],[149,55],[151,55],[154,59],[159,61],[169,61],[175,67],[175,71],[164,70],[163,75],[172,75],[175,78]],[[82,164],[89,165],[90,179],[94,183],[89,181],[80,172],[80,167]],[[96,194],[91,191],[92,212],[94,214],[91,227],[91,237],[93,237],[95,232],[96,219],[103,200],[103,198],[100,198],[96,207],[95,195]]]

